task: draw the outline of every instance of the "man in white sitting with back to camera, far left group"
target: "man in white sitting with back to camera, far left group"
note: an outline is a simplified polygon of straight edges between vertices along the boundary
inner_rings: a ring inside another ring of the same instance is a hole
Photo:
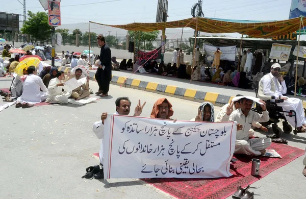
[[[23,82],[22,95],[17,98],[16,108],[30,108],[34,104],[41,103],[47,98],[47,88],[41,78],[37,76],[35,66],[28,67],[28,77]],[[40,91],[42,90],[42,92]]]

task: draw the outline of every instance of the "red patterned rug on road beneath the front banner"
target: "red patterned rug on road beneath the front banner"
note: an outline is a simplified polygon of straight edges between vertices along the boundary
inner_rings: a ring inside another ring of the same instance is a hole
[[[218,179],[141,179],[146,183],[177,198],[226,198],[232,195],[238,186],[246,187],[254,183],[270,172],[282,167],[294,159],[302,156],[304,150],[285,144],[272,143],[268,149],[274,149],[282,159],[257,157],[261,160],[260,176],[250,175],[251,157],[234,155],[238,161],[231,163],[230,171],[233,174],[230,178]],[[99,156],[99,153],[93,154]]]

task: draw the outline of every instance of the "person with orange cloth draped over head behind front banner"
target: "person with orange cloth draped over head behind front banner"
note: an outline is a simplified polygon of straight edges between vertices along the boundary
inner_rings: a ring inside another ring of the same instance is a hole
[[[159,98],[151,111],[151,118],[159,118],[159,119],[171,119],[170,117],[173,115],[173,109],[171,103],[167,98]],[[173,120],[173,119],[171,119]]]

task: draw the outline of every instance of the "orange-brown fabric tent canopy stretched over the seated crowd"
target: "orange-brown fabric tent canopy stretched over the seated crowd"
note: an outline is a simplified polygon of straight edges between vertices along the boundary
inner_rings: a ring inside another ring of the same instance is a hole
[[[278,35],[287,35],[299,30],[299,23],[302,18],[306,24],[306,18],[297,17],[280,21],[248,21],[230,20],[198,17],[198,31],[206,33],[240,33],[255,38],[271,38]],[[192,28],[196,27],[196,18],[188,18],[177,21],[159,23],[129,23],[123,25],[109,25],[90,21],[92,23],[113,28],[120,28],[129,31],[152,32],[164,28]]]

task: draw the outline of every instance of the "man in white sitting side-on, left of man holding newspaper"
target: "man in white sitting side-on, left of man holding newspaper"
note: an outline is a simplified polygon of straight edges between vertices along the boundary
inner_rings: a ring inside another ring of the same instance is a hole
[[[50,80],[46,102],[68,104],[68,97],[71,96],[71,92],[62,91],[63,86],[65,85],[63,80],[65,80],[65,74],[63,71],[59,71],[56,78]]]

